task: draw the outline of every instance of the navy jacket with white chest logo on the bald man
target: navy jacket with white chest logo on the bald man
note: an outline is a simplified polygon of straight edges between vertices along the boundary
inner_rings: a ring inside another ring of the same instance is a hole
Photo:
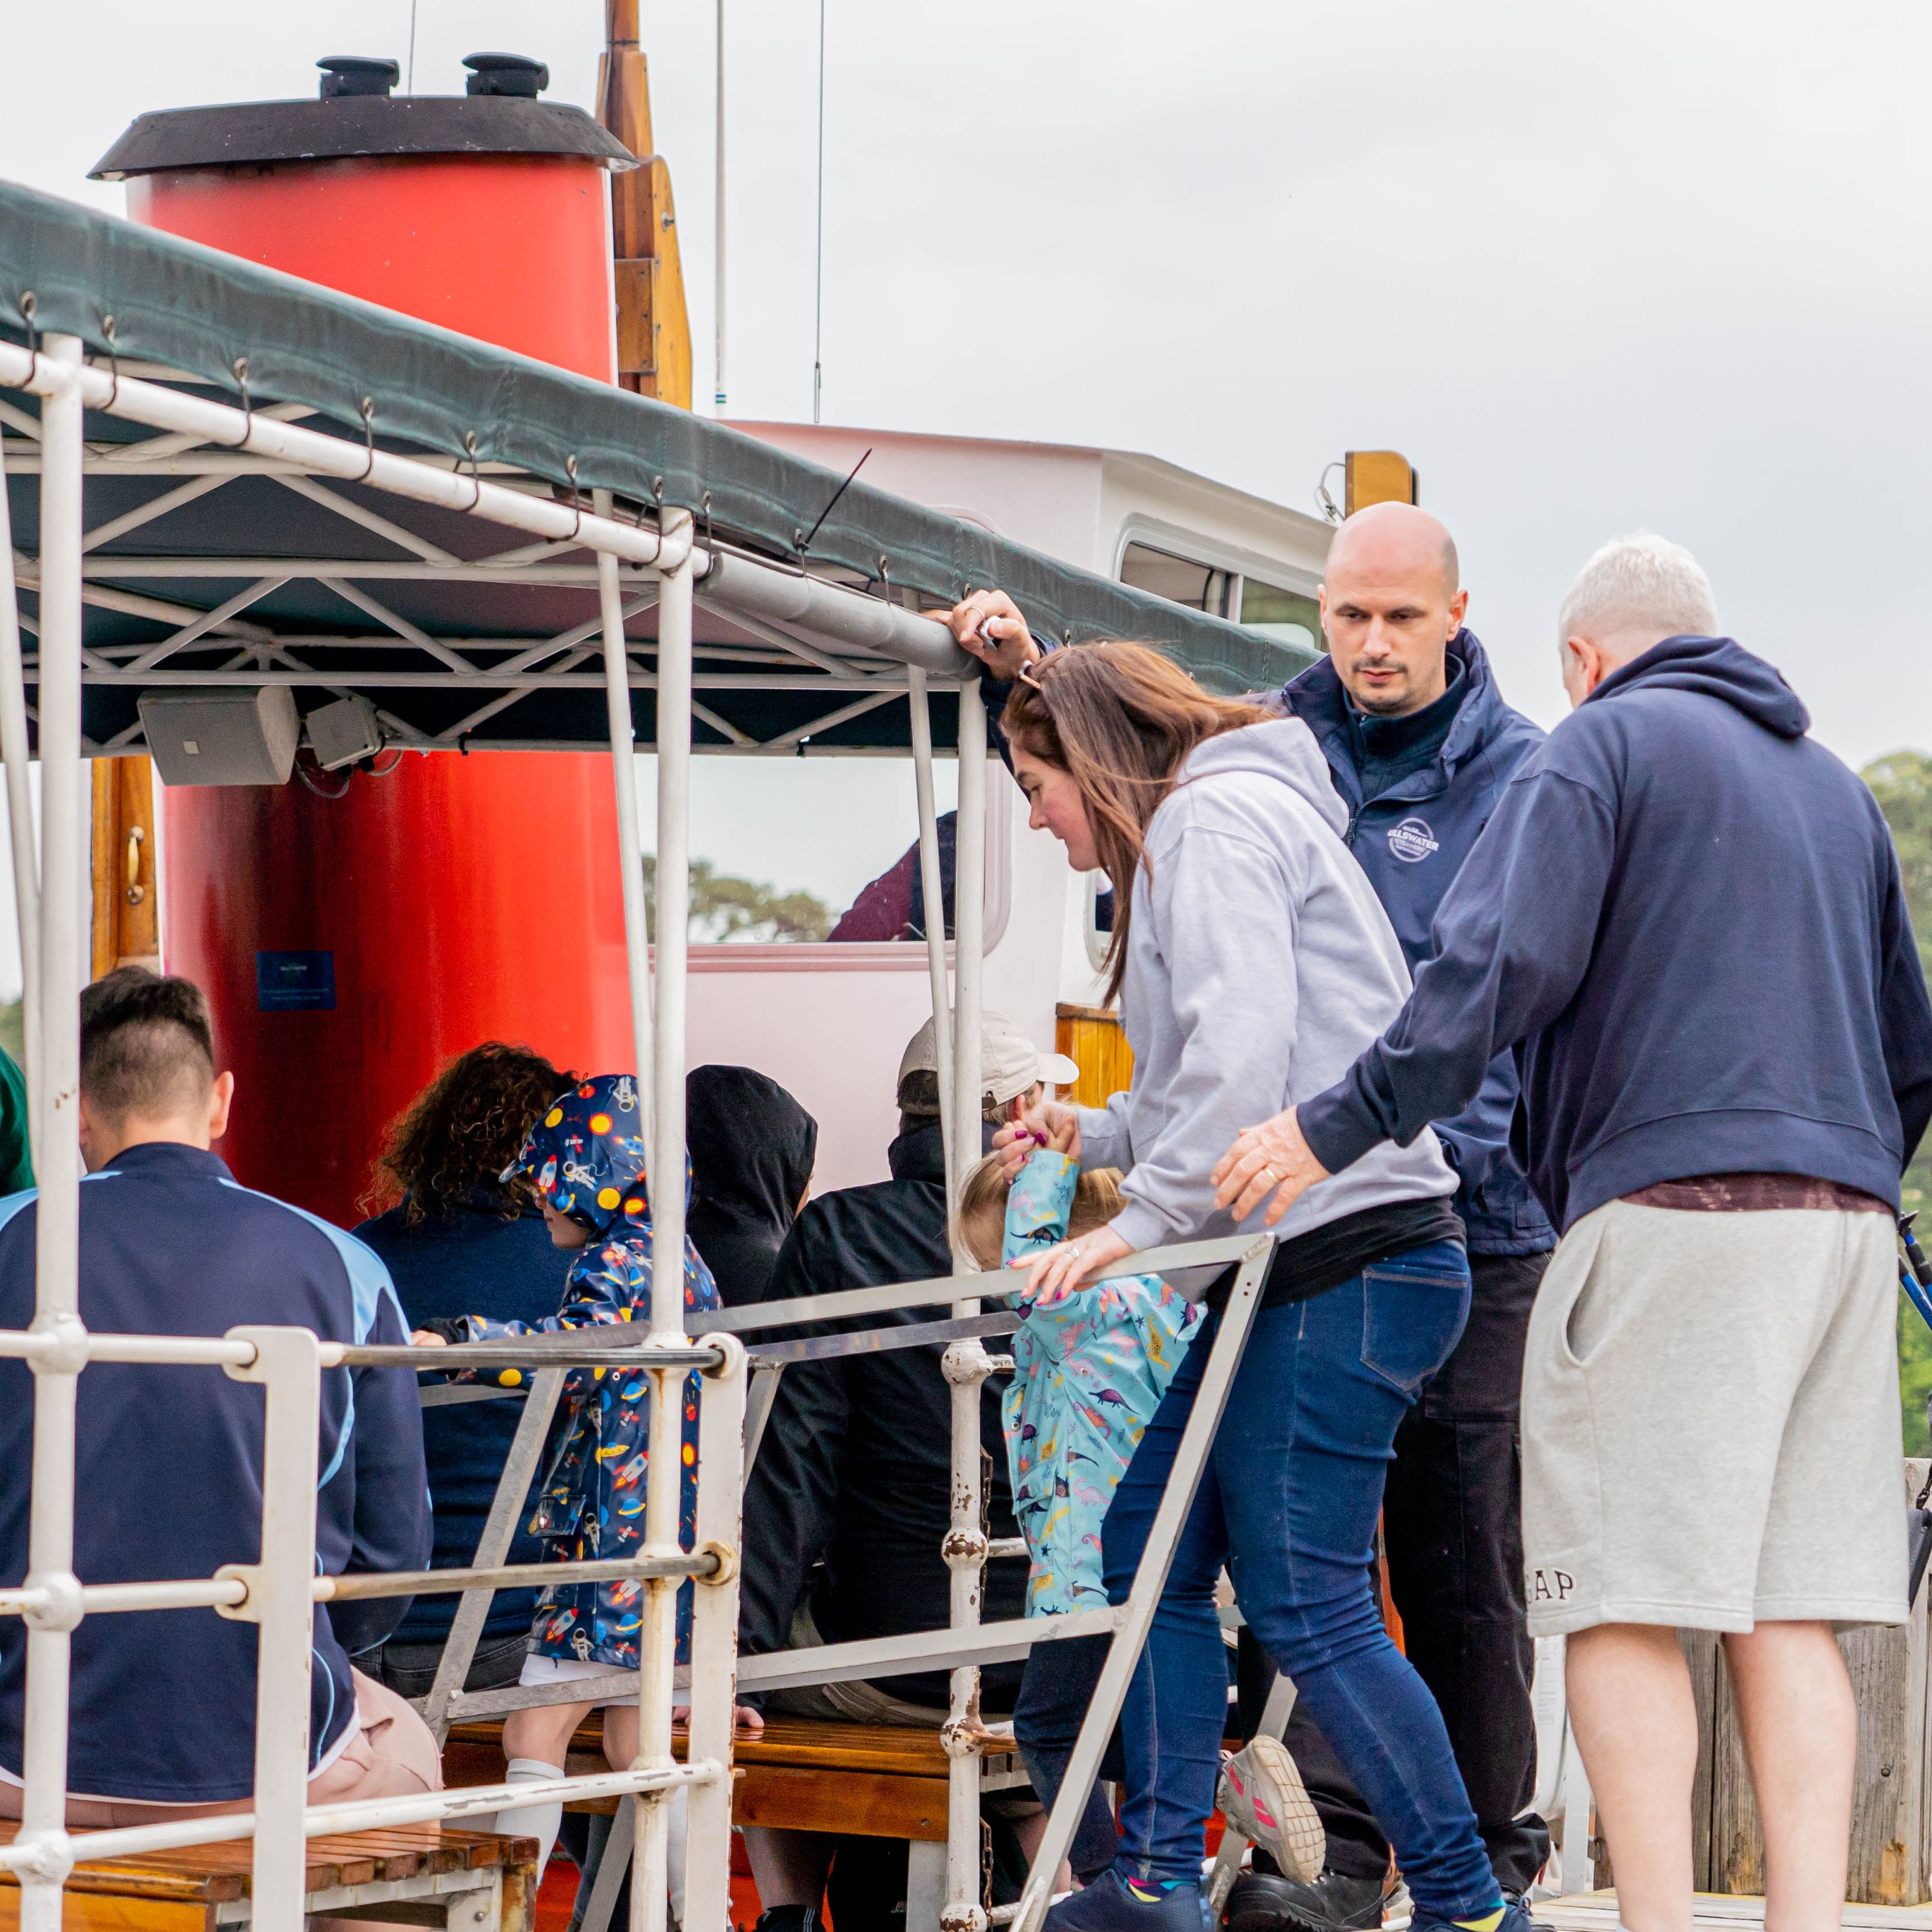
[[[1349,694],[1329,659],[1273,699],[1316,734],[1349,808],[1345,840],[1389,914],[1410,972],[1434,951],[1435,908],[1490,823],[1511,773],[1544,742],[1536,724],[1503,703],[1472,630],[1449,639],[1447,659],[1451,686],[1437,699],[1453,699],[1447,730],[1434,755],[1387,790],[1364,784],[1364,750],[1370,750],[1364,740],[1374,740],[1381,721],[1350,717]],[[1503,1051],[1468,1107],[1434,1122],[1463,1182],[1457,1213],[1468,1229],[1470,1254],[1542,1254],[1555,1246],[1555,1233],[1509,1151],[1515,1111],[1517,1066]]]

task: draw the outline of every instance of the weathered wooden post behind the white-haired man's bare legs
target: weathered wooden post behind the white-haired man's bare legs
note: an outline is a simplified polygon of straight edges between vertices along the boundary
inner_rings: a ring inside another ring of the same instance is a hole
[[[1903,1493],[1915,1497],[1926,1464],[1909,1459]],[[1837,1640],[1859,1700],[1859,1758],[1851,1795],[1851,1868],[1845,1899],[1853,1905],[1922,1905],[1928,1882],[1926,1816],[1926,1596],[1920,1592],[1903,1629],[1847,1631]],[[1764,1893],[1764,1828],[1745,1770],[1731,1675],[1721,1650],[1710,1712],[1710,1888]],[[1702,1718],[1702,1706],[1700,1706]],[[1702,1723],[1700,1723],[1702,1733]],[[1700,1762],[1704,1760],[1700,1735]],[[1694,1853],[1692,1853],[1694,1857]]]

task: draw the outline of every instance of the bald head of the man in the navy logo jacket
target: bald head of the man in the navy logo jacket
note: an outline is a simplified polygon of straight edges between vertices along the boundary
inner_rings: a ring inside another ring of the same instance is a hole
[[[1410,502],[1356,510],[1329,543],[1321,630],[1360,711],[1406,717],[1449,688],[1447,647],[1468,591],[1455,539]]]

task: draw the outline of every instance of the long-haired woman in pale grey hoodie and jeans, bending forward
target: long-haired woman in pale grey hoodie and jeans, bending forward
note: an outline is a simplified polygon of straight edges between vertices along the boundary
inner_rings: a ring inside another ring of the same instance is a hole
[[[1134,1047],[1128,1094],[1074,1109],[1076,1157],[1122,1169],[1126,1206],[1036,1264],[1030,1293],[1051,1302],[1134,1248],[1233,1233],[1209,1182],[1233,1134],[1333,1084],[1401,1009],[1408,972],[1298,719],[1211,697],[1140,645],[1097,643],[1024,672],[1005,730],[1034,827],[1115,883],[1111,991]],[[1378,1151],[1281,1225],[1122,1714],[1121,1859],[1049,1913],[1051,1932],[1200,1928],[1227,1714],[1223,1563],[1387,1830],[1420,1932],[1526,1932],[1490,1870],[1441,1714],[1368,1582],[1395,1428],[1468,1310],[1457,1182],[1435,1136]],[[1231,1279],[1208,1285],[1211,1310]],[[1117,1604],[1209,1347],[1204,1335],[1188,1350],[1109,1511]]]

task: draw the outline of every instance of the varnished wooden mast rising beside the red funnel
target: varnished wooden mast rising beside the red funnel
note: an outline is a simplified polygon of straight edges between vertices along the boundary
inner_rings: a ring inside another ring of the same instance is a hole
[[[651,141],[651,71],[638,46],[638,0],[607,0],[599,120],[638,156],[611,176],[616,379],[639,396],[692,406],[692,321],[684,307],[670,166]]]

